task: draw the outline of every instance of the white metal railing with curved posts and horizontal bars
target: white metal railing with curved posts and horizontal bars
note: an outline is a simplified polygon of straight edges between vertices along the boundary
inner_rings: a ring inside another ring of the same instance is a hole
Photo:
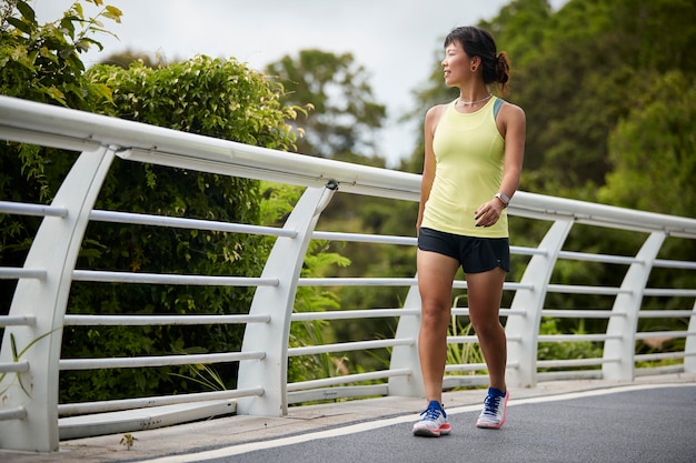
[[[420,314],[416,276],[300,278],[307,245],[312,239],[414,246],[416,240],[412,236],[377,236],[315,229],[321,211],[337,189],[395,201],[418,201],[419,175],[279,152],[7,97],[0,97],[0,140],[81,152],[51,205],[8,202],[0,198],[0,213],[43,218],[24,265],[0,266],[0,279],[18,281],[10,313],[0,316],[0,326],[4,326],[0,351],[0,375],[3,375],[0,376],[0,391],[4,391],[0,403],[0,447],[56,451],[62,435],[59,416],[63,414],[102,414],[146,406],[235,400],[236,411],[240,414],[282,415],[287,413],[288,404],[302,401],[424,394],[416,345]],[[284,182],[307,189],[281,228],[93,210],[110,165],[123,160]],[[696,220],[528,192],[515,195],[509,213],[550,223],[548,232],[536,246],[511,246],[513,254],[528,258],[521,279],[505,283],[504,290],[513,294],[513,299],[510,306],[500,311],[500,316],[506,320],[510,345],[508,379],[511,385],[530,386],[538,381],[581,378],[632,381],[638,374],[696,371],[696,304],[693,302],[696,285],[686,289],[646,288],[648,276],[656,268],[683,272],[696,270],[695,262],[657,259],[665,240],[696,239]],[[90,221],[260,234],[275,236],[276,243],[258,278],[77,270],[77,253]],[[648,238],[636,255],[613,255],[610,250],[605,250],[604,254],[565,251],[563,245],[575,224],[626,230],[647,234]],[[558,261],[620,265],[620,269],[628,270],[619,270],[625,275],[618,288],[556,284],[551,283],[551,274]],[[66,313],[72,281],[242,285],[255,286],[256,293],[249,313],[242,315],[74,315]],[[408,288],[408,295],[401,308],[294,313],[295,292],[300,285]],[[456,281],[454,288],[465,290],[466,282]],[[610,298],[613,308],[553,309],[546,306],[546,298],[553,293]],[[644,305],[644,296],[680,298],[686,302],[684,309],[657,311]],[[466,316],[468,309],[453,308],[453,315]],[[688,319],[688,328],[652,333],[638,331],[639,319],[658,316]],[[289,329],[294,322],[340,322],[358,318],[398,319],[397,332],[389,340],[288,346]],[[607,321],[607,329],[595,334],[540,335],[543,318],[600,319]],[[240,352],[135,359],[60,359],[62,328],[67,325],[238,323],[245,324]],[[656,335],[683,338],[685,348],[677,352],[636,353],[637,340]],[[17,345],[36,343],[21,359],[17,359],[10,339]],[[539,343],[577,341],[603,344],[603,355],[597,359],[538,360]],[[476,342],[476,338],[451,336],[448,342],[468,344]],[[389,366],[382,371],[287,383],[289,356],[368,349],[391,350]],[[674,365],[636,366],[636,362],[660,360],[672,360]],[[239,362],[236,390],[58,404],[58,374],[61,370],[215,362]],[[581,370],[586,368],[590,370]],[[445,386],[484,384],[487,382],[487,376],[483,374],[485,369],[483,363],[447,365]],[[559,371],[540,372],[541,369]],[[374,384],[356,384],[360,382]],[[20,383],[31,384],[31,394],[27,394]]]

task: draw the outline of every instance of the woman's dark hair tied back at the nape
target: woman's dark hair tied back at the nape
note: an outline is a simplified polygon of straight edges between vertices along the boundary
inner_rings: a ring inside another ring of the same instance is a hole
[[[445,38],[445,47],[455,41],[461,44],[464,51],[470,57],[479,57],[484,67],[484,82],[499,83],[500,92],[505,93],[507,82],[510,80],[510,62],[505,51],[498,53],[496,41],[487,30],[465,26],[455,28]]]

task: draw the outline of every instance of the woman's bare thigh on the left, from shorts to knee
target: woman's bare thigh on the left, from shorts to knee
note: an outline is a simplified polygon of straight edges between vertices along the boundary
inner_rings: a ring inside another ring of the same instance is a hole
[[[451,283],[459,261],[432,251],[418,250],[418,289],[424,309],[431,305],[451,308]]]

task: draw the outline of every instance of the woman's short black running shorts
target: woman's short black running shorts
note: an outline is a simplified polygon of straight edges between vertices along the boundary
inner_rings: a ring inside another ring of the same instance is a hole
[[[507,238],[466,236],[421,228],[418,249],[457,260],[465,273],[488,272],[497,266],[510,271],[510,243]]]

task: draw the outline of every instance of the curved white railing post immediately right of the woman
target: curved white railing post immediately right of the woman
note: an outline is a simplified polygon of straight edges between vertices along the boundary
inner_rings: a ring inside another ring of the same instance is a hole
[[[537,344],[546,289],[558,253],[573,224],[571,220],[554,222],[539,243],[539,249],[546,252],[535,254],[529,260],[520,280],[523,285],[531,285],[531,288],[517,290],[510,304],[513,311],[524,311],[521,315],[511,313],[505,324],[506,335],[519,339],[519,342],[515,341],[513,346],[508,348],[507,354],[508,363],[517,365],[507,370],[508,381],[518,387],[534,387],[537,384]]]

